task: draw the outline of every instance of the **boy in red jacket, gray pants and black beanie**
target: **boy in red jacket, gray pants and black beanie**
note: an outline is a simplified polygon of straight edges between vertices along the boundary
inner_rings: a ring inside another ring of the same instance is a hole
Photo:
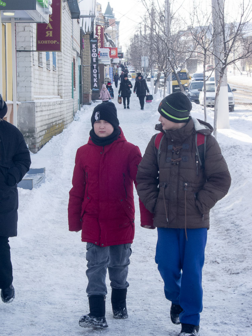
[[[134,238],[133,182],[141,161],[139,148],[125,139],[112,102],[94,108],[88,143],[76,153],[70,190],[69,230],[82,230],[87,242],[90,312],[81,327],[106,328],[106,273],[112,287],[113,316],[128,317],[126,294],[131,243]],[[153,216],[140,202],[141,224],[153,225]]]

